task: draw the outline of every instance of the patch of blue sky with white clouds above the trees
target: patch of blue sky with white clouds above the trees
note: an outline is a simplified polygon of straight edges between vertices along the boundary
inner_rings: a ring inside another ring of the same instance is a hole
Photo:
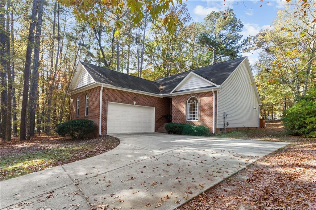
[[[261,29],[269,27],[276,18],[277,11],[284,9],[285,0],[182,0],[187,4],[193,21],[202,22],[204,17],[212,11],[221,11],[227,7],[234,9],[234,12],[243,24],[242,35],[246,38],[248,35],[255,35]],[[224,5],[225,4],[225,5]],[[262,4],[262,7],[260,5]],[[258,51],[253,53],[243,53],[248,56],[250,63],[254,64],[258,57]]]

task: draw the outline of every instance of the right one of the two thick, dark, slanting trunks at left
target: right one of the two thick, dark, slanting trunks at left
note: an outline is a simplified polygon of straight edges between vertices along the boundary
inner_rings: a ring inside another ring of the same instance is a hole
[[[29,126],[28,126],[28,135],[29,140],[30,136],[34,136],[35,130],[35,110],[37,104],[37,87],[39,80],[39,58],[40,58],[40,37],[42,33],[42,17],[43,17],[43,1],[38,3],[38,15],[37,15],[37,25],[36,25],[36,34],[35,34],[35,44],[34,44],[34,55],[33,55],[33,72],[31,78],[31,87],[29,95],[29,105],[28,105],[28,114],[29,114]]]

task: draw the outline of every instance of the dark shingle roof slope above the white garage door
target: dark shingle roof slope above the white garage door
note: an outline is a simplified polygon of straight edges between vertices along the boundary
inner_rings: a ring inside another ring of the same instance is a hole
[[[127,75],[93,64],[80,62],[96,82],[116,87],[159,94],[159,83],[145,80],[136,76]]]

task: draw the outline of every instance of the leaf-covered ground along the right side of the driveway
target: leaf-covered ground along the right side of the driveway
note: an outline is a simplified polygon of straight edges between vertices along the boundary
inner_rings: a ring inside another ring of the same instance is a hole
[[[260,130],[217,136],[292,143],[197,196],[180,210],[316,209],[315,138],[289,136],[279,121],[270,121]]]

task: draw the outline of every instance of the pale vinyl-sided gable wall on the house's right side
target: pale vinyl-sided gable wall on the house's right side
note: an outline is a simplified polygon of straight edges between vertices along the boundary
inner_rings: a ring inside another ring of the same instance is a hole
[[[217,127],[223,128],[226,111],[228,128],[258,127],[258,98],[256,84],[252,81],[244,60],[222,84],[217,94]],[[254,109],[254,107],[256,109]]]

